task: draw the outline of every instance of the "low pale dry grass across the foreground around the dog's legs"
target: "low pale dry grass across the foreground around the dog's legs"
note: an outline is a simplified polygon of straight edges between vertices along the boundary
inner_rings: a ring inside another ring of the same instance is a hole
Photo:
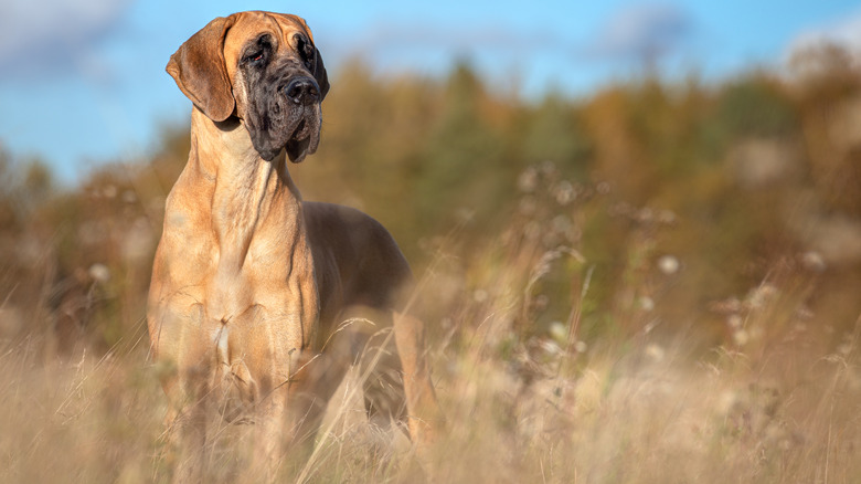
[[[779,301],[769,304],[780,304]],[[768,347],[691,354],[688,341],[604,341],[583,353],[539,339],[503,355],[508,303],[464,307],[431,348],[448,428],[426,450],[435,482],[814,482],[861,478],[857,334],[838,353],[798,328]],[[753,315],[755,326],[768,317]],[[142,329],[141,329],[142,330]],[[45,360],[38,335],[2,354],[2,482],[160,482],[164,399],[146,346]],[[414,482],[402,432],[349,404],[308,469],[286,481]],[[243,475],[242,430],[216,475]],[[222,440],[227,439],[225,435]],[[222,442],[225,444],[225,442]]]

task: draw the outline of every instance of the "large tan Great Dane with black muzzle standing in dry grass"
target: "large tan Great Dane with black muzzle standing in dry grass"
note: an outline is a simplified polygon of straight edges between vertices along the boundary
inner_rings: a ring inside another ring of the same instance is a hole
[[[302,202],[287,172],[287,157],[299,162],[316,151],[329,90],[302,19],[215,19],[167,71],[194,104],[148,309],[153,355],[174,370],[163,386],[185,450],[177,477],[200,478],[210,410],[257,424],[257,454],[274,472],[308,406],[320,408],[344,370],[343,357],[316,358],[339,316],[355,305],[398,309],[412,275],[380,223]],[[392,319],[411,436],[421,441],[439,418],[424,328],[398,313]],[[310,396],[304,406],[300,391]]]

